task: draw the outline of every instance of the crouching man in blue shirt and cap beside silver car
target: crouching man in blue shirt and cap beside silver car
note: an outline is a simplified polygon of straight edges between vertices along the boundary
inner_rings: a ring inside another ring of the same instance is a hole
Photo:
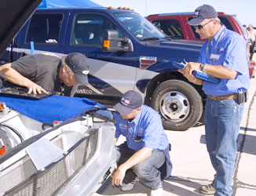
[[[130,191],[140,180],[151,189],[151,196],[161,196],[162,182],[172,168],[170,143],[159,114],[142,103],[141,94],[130,90],[114,106],[115,139],[123,135],[126,142],[118,147],[119,162],[112,174],[112,185],[122,185],[122,191]]]

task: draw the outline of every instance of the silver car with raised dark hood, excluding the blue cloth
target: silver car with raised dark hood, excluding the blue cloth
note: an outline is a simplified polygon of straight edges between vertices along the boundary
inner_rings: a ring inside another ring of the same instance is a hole
[[[41,1],[1,1],[0,56]],[[101,187],[115,166],[114,116],[82,109],[47,124],[1,103],[0,195],[90,195]]]

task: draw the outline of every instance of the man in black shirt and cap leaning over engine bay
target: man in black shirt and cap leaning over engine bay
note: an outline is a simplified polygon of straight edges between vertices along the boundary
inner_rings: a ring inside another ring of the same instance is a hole
[[[82,53],[69,53],[62,59],[48,54],[31,54],[0,67],[5,87],[20,85],[28,89],[27,93],[34,94],[49,91],[74,96],[79,84],[88,84],[88,73],[87,59]],[[74,85],[76,88],[72,89]]]

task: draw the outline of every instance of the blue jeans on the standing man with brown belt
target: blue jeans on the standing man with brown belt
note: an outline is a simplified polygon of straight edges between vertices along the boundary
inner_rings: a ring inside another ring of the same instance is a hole
[[[207,98],[204,122],[207,151],[216,174],[215,196],[232,195],[232,175],[236,162],[236,140],[240,131],[243,103]]]

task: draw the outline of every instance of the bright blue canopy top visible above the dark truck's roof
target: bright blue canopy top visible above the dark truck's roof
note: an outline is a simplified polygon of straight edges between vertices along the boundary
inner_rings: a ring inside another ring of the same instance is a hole
[[[90,0],[42,0],[38,9],[60,7],[102,7]]]

